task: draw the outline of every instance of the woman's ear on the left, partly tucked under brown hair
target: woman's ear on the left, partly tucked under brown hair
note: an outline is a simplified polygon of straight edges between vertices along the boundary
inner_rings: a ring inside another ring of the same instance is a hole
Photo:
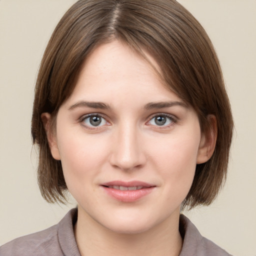
[[[55,160],[60,160],[60,154],[59,154],[57,139],[56,139],[56,132],[53,131],[53,128],[51,125],[52,117],[50,113],[46,113],[46,112],[42,113],[41,120],[47,135],[47,140],[48,140],[48,145],[50,148],[51,155]]]

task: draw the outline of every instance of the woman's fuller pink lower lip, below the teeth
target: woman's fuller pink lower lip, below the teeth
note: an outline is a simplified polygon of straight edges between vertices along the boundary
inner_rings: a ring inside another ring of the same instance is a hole
[[[136,190],[119,190],[110,188],[107,186],[102,186],[104,191],[114,197],[115,199],[122,201],[122,202],[133,202],[140,199],[143,196],[151,193],[155,186],[145,187]]]

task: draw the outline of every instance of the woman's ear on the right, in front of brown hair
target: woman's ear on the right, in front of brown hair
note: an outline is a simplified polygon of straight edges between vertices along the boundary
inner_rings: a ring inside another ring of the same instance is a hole
[[[217,139],[216,117],[213,114],[209,114],[207,119],[209,127],[203,134],[201,134],[196,163],[203,163],[209,160],[215,149]]]

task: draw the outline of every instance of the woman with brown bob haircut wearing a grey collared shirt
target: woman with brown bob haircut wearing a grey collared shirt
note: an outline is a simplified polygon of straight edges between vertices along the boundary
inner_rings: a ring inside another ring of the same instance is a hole
[[[77,201],[1,255],[228,255],[180,210],[225,179],[232,116],[200,24],[172,0],[80,0],[38,72],[32,116],[43,197]]]

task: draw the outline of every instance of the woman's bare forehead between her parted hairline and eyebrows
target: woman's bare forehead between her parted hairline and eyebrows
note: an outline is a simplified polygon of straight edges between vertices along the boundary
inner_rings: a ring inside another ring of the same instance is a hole
[[[111,98],[114,103],[121,94],[133,100],[161,101],[170,95],[179,99],[160,79],[155,59],[145,51],[143,54],[145,58],[117,40],[100,44],[83,62],[68,101]]]

